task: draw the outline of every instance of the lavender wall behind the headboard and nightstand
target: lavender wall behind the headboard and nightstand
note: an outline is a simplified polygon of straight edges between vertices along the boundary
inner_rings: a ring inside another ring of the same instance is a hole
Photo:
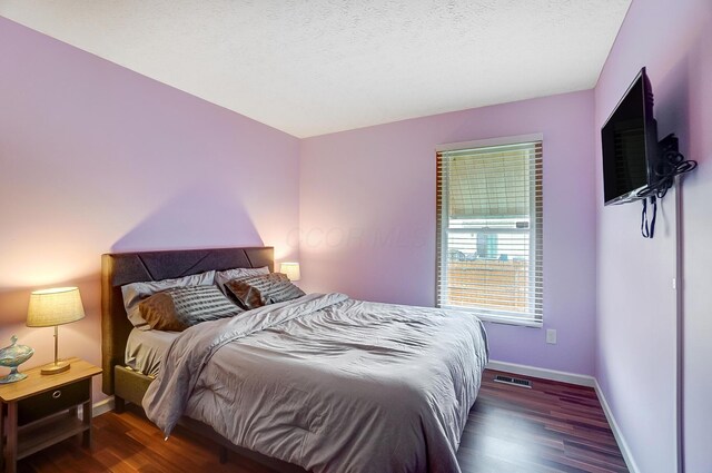
[[[87,317],[60,356],[100,362],[100,255],[274,245],[298,225],[299,141],[0,18],[0,346],[29,293],[78,285]],[[23,367],[26,367],[23,365]],[[98,385],[97,385],[98,386]]]

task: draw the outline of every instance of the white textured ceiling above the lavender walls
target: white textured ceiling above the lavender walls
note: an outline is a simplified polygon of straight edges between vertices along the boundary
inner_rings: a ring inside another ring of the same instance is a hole
[[[631,0],[0,0],[297,137],[595,86]]]

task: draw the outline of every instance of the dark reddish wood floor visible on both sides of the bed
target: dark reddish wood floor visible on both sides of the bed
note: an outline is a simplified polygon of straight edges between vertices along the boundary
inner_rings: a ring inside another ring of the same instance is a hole
[[[467,473],[626,472],[625,463],[590,387],[532,378],[531,390],[494,383],[486,371],[469,412],[457,457]],[[268,473],[185,431],[169,442],[142,414],[95,418],[91,451],[70,438],[19,462],[20,472],[234,472]]]

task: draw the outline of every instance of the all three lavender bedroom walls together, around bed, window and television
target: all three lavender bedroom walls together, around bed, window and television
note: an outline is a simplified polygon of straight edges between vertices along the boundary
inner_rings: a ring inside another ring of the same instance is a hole
[[[29,293],[76,284],[87,318],[61,327],[60,349],[99,363],[99,255],[109,250],[265,244],[291,259],[300,244],[306,289],[433,305],[434,147],[543,132],[545,327],[560,339],[488,324],[492,356],[595,371],[640,470],[673,471],[674,193],[652,242],[639,236],[639,206],[601,205],[597,130],[642,66],[660,135],[678,132],[701,164],[681,216],[684,420],[688,471],[706,471],[709,0],[634,0],[595,93],[303,141],[0,18],[0,346],[17,333],[37,349],[27,366],[50,361],[51,329],[23,326]]]

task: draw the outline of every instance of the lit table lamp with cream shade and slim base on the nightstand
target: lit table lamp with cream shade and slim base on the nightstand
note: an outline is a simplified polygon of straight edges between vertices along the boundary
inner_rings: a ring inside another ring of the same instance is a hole
[[[69,363],[57,358],[57,326],[85,318],[85,307],[77,287],[34,290],[27,309],[28,327],[55,327],[55,363],[42,366],[42,374],[58,374],[69,369]]]

